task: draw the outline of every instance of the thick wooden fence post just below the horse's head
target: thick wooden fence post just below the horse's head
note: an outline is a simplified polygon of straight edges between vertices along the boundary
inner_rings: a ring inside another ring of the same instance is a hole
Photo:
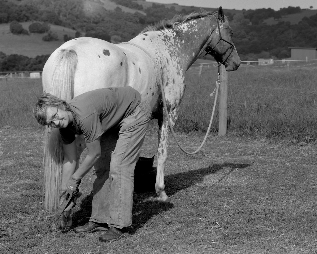
[[[227,134],[227,102],[228,102],[228,72],[226,68],[220,67],[219,85],[219,123],[218,136],[223,137]]]

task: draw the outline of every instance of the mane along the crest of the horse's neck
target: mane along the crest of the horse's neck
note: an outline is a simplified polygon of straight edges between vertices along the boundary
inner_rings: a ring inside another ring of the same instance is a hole
[[[171,19],[163,19],[155,24],[148,25],[146,28],[144,28],[139,34],[143,34],[145,32],[150,31],[162,31],[165,29],[175,29],[179,25],[182,25],[190,20],[194,20],[197,18],[203,18],[210,15],[216,15],[217,17],[217,11],[211,12],[206,10],[200,10],[200,11],[194,11],[190,14],[181,16],[181,15],[175,15]],[[224,16],[224,22],[228,24],[228,19],[226,16]]]

